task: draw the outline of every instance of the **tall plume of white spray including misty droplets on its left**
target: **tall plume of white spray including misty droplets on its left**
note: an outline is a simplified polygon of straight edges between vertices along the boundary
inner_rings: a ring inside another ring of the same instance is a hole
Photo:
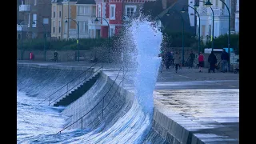
[[[150,123],[136,143],[142,143],[150,131],[154,110],[153,91],[158,78],[161,58],[158,58],[162,43],[162,33],[140,15],[133,18],[115,42],[115,46],[124,52],[124,63],[134,67],[135,98]]]

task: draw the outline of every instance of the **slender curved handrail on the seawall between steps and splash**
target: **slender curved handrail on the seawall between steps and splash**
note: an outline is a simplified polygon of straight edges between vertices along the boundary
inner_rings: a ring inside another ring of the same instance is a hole
[[[118,75],[120,74],[120,71],[122,70],[123,67],[125,67],[125,66],[121,66],[121,68],[118,70]],[[126,69],[127,69],[127,71],[128,71],[128,67],[127,67],[127,66],[126,66]],[[127,71],[126,71],[126,72],[127,72]],[[114,79],[114,82],[117,80],[118,75],[117,75],[117,77]],[[125,75],[126,75],[126,74],[123,75],[122,81],[124,80]],[[122,81],[121,81],[121,82],[122,82]],[[113,82],[112,85],[110,86],[110,89],[114,86],[114,82]],[[121,83],[121,82],[120,82],[120,83]],[[119,83],[119,85],[120,85],[120,83]],[[118,86],[119,86],[119,85],[118,85]],[[108,94],[108,93],[110,92],[110,89],[106,92],[106,94]],[[117,90],[118,90],[118,89],[117,89]],[[96,106],[98,106],[98,104],[99,104],[100,102],[102,102],[102,100],[103,100],[103,105],[102,105],[102,106],[104,106],[104,98],[106,97],[106,94],[103,96],[103,98],[102,98],[91,110],[89,110],[89,111],[88,111],[86,114],[84,114],[81,118],[78,118],[77,121],[71,123],[69,126],[66,126],[66,127],[63,128],[62,130],[58,131],[58,133],[61,134],[61,132],[62,132],[63,130],[66,130],[66,129],[69,128],[70,126],[73,126],[74,123],[78,122],[80,119],[82,120],[82,118],[85,117],[87,114],[89,114],[92,110],[94,110],[94,108],[95,108]],[[114,94],[115,94],[115,93],[114,93]],[[104,107],[102,107],[102,115],[103,115],[103,110],[105,110]],[[98,118],[98,117],[97,117],[97,118]],[[58,133],[57,133],[57,134],[58,134]]]

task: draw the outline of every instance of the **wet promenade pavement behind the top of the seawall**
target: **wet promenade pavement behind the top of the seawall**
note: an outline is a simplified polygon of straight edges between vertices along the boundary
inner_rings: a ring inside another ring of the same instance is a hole
[[[31,62],[18,62],[31,63]],[[33,62],[39,65],[85,66],[88,62]],[[121,64],[105,64],[104,70],[115,78]],[[163,70],[154,90],[154,106],[204,143],[238,143],[239,74],[208,73],[203,69]],[[122,73],[120,74],[122,78]],[[126,74],[124,88],[134,90],[132,73]],[[118,78],[118,81],[120,79]],[[117,82],[118,82],[117,81]],[[178,114],[178,116],[177,116]]]

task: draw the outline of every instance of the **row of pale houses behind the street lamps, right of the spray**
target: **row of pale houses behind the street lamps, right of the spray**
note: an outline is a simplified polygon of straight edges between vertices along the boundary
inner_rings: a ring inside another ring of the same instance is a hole
[[[239,33],[239,0],[210,0],[213,4],[211,6],[214,11],[214,29],[212,21],[212,10],[210,7],[204,6],[204,2],[208,0],[189,0],[188,4],[194,6],[195,2],[199,2],[199,7],[197,8],[198,14],[201,18],[200,23],[200,35],[203,42],[209,41],[212,38],[212,30],[214,30],[214,38],[222,34],[228,34],[229,30],[229,13],[223,2],[229,7],[230,10],[230,31],[231,34]],[[188,9],[188,14],[190,17],[190,26],[194,26],[194,19],[196,20],[196,34],[199,31],[199,18],[195,14],[193,9]]]

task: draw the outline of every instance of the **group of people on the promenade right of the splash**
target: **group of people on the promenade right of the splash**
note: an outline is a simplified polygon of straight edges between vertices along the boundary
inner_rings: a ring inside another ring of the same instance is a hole
[[[162,73],[162,69],[163,66],[166,66],[166,70],[169,69],[169,67],[174,64],[175,66],[175,72],[177,73],[178,71],[178,67],[181,68],[182,64],[181,64],[181,56],[178,52],[176,52],[175,54],[171,51],[167,51],[166,53],[161,52],[161,54],[158,55],[158,57],[162,57],[162,66],[160,67],[160,72]],[[227,63],[229,61],[229,54],[226,53],[226,50],[223,49],[222,50],[222,55],[221,55],[221,59],[222,59],[222,72],[226,73],[227,72]],[[191,50],[190,52],[190,58],[189,58],[189,69],[192,68],[194,66],[194,58],[195,58],[195,54],[193,53],[193,51]],[[210,73],[210,71],[213,71],[215,73],[215,69],[217,66],[217,57],[214,54],[214,51],[211,51],[207,62],[209,62],[210,64],[210,68],[208,69],[208,73]],[[199,67],[199,72],[202,72],[202,67],[204,65],[204,56],[202,54],[202,52],[200,52],[199,56],[198,56],[198,67]]]

